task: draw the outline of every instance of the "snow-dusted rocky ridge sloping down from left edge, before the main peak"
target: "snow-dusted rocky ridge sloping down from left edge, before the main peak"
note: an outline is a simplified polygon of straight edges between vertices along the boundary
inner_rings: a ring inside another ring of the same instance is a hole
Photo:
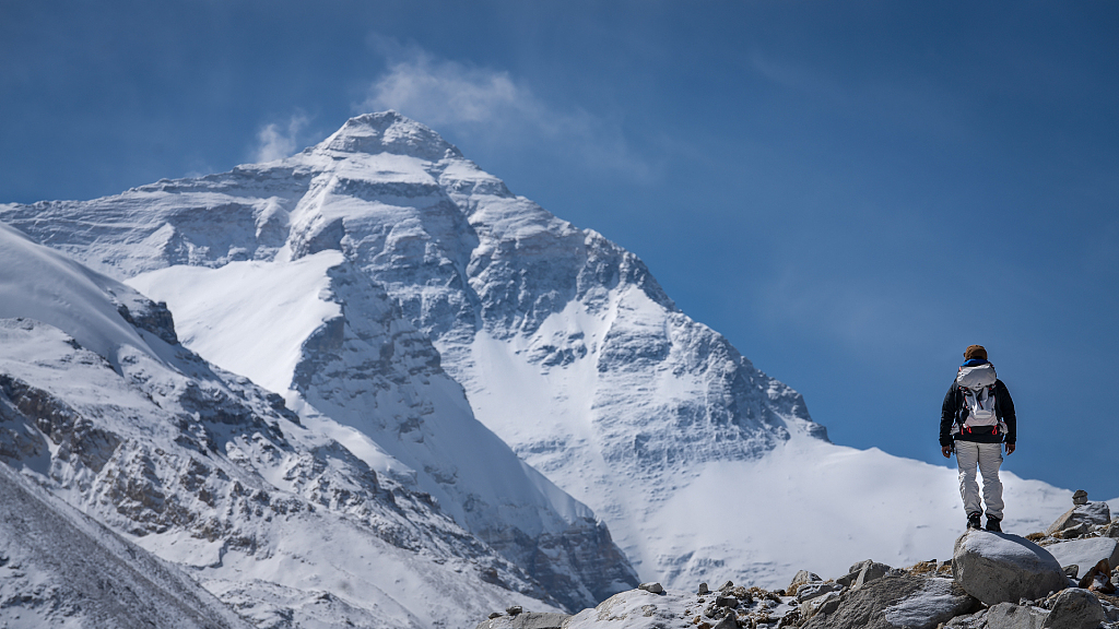
[[[37,285],[53,292],[29,292]],[[0,225],[4,463],[260,627],[460,627],[514,602],[556,609],[430,496],[301,425],[279,396],[163,340],[173,329],[151,323],[169,320],[130,323],[116,303],[159,311]],[[85,348],[88,339],[106,354]],[[56,551],[22,570],[51,574],[66,548]]]

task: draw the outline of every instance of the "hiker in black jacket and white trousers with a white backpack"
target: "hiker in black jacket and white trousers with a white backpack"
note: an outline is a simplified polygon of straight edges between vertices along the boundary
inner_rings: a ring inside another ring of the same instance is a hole
[[[946,459],[956,451],[968,528],[979,528],[984,513],[976,482],[978,464],[982,501],[987,506],[987,531],[1002,532],[1003,482],[998,479],[998,468],[1003,464],[1003,442],[1009,454],[1018,436],[1014,401],[981,345],[968,346],[963,359],[940,409],[940,451]]]

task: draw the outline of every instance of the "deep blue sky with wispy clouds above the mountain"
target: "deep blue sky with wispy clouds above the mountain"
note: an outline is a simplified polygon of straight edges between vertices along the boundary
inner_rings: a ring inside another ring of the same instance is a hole
[[[294,152],[364,111],[640,255],[837,443],[1119,496],[1119,3],[0,4],[0,201]],[[1013,506],[1012,506],[1013,507]]]

